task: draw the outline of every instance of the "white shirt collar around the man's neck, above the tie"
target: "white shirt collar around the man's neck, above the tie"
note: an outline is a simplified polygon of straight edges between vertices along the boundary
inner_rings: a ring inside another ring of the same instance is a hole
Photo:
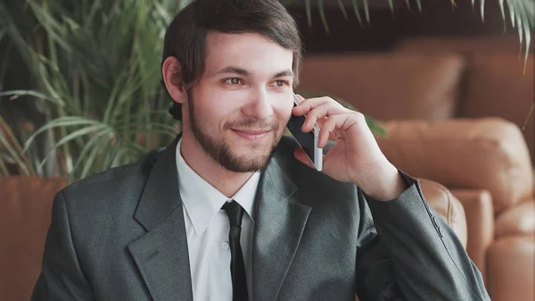
[[[218,189],[202,179],[187,163],[180,153],[182,138],[178,140],[176,158],[178,172],[178,189],[185,211],[193,223],[193,228],[197,235],[201,235],[219,212],[221,207],[228,201]],[[242,205],[245,212],[254,222],[252,211],[254,200],[259,186],[260,172],[253,173],[251,178],[245,182],[232,197],[238,204]]]

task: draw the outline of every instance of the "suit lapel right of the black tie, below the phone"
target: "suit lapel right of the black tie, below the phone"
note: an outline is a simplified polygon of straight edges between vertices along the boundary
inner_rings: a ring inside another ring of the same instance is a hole
[[[262,174],[254,213],[251,261],[254,301],[276,300],[299,247],[311,208],[296,202],[296,190],[274,158]]]

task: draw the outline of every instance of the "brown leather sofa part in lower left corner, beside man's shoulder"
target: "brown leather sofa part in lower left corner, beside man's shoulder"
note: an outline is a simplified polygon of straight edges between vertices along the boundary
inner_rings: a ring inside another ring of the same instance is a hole
[[[29,300],[52,216],[53,196],[66,180],[0,177],[0,299]]]

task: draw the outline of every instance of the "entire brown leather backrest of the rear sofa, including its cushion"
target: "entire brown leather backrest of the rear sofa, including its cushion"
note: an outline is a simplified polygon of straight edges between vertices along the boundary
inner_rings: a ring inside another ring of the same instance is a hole
[[[512,121],[535,162],[533,51],[517,36],[413,38],[382,54],[308,55],[299,89],[332,95],[382,121],[498,117]],[[528,118],[529,117],[529,118]]]

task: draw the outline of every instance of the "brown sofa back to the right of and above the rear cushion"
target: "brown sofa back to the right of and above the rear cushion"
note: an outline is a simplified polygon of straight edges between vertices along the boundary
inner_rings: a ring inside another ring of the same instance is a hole
[[[533,119],[529,117],[533,95],[535,39],[524,63],[525,41],[516,34],[481,38],[410,38],[395,51],[406,54],[458,54],[465,58],[465,80],[457,105],[457,117],[499,117],[523,129],[535,162]],[[522,47],[522,52],[519,50]],[[526,67],[524,71],[524,65]]]

